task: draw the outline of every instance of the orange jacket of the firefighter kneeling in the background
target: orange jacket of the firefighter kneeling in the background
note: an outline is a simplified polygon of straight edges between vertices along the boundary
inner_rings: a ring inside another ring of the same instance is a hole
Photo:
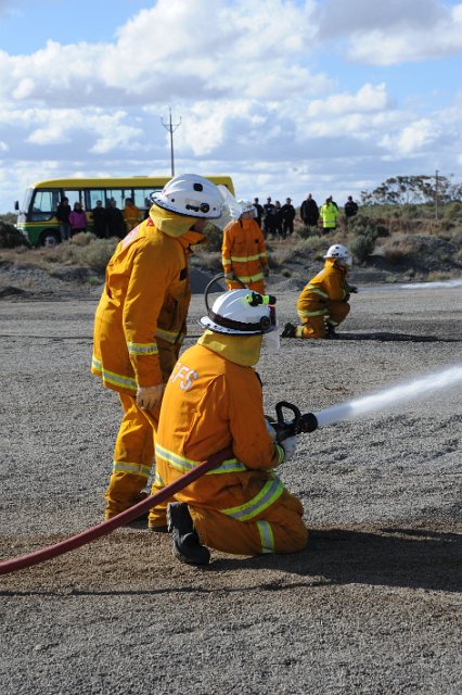
[[[335,263],[335,258],[325,258],[323,269],[304,287],[297,302],[297,313],[304,323],[310,316],[326,314],[328,301],[341,302],[348,294],[347,268]]]

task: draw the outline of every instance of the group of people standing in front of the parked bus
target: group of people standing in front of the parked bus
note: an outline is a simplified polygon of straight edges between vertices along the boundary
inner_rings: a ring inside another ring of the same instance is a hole
[[[61,241],[67,241],[70,237],[81,231],[88,231],[87,213],[79,202],[74,203],[74,207],[70,208],[68,198],[63,198],[57,205],[56,217],[60,223]],[[103,206],[103,201],[98,200],[90,217],[92,232],[99,239],[107,237],[123,239],[142,219],[143,214],[133,204],[131,198],[125,199],[124,210],[117,207],[117,203],[113,198],[110,199],[105,207]]]

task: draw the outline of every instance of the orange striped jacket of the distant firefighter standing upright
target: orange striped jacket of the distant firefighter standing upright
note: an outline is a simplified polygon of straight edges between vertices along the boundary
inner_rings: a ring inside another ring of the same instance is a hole
[[[268,254],[255,219],[239,219],[224,227],[221,264],[224,274],[232,271],[244,285],[264,279]]]

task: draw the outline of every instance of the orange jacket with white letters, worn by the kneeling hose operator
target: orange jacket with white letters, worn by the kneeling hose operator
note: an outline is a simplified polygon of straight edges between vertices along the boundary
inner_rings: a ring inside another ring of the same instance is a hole
[[[181,355],[167,383],[157,430],[155,488],[232,446],[232,458],[175,497],[246,521],[258,518],[283,493],[272,468],[283,460],[284,452],[267,431],[257,374],[206,346],[207,332],[200,340],[204,344]]]

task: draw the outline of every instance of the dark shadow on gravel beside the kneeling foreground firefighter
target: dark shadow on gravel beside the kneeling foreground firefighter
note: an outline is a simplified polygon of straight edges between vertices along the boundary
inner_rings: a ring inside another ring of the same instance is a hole
[[[462,535],[425,529],[384,528],[359,531],[328,529],[310,533],[296,555],[230,558],[214,563],[226,569],[273,568],[311,577],[322,584],[372,584],[460,592]],[[262,589],[282,586],[268,585]]]

